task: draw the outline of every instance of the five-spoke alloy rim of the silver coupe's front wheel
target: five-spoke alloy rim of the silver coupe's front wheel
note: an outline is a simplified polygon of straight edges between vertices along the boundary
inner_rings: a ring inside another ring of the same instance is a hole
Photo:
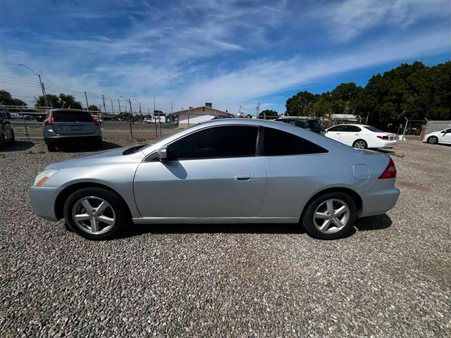
[[[77,201],[72,217],[75,225],[89,234],[103,234],[116,223],[116,213],[111,204],[97,196],[87,196]]]

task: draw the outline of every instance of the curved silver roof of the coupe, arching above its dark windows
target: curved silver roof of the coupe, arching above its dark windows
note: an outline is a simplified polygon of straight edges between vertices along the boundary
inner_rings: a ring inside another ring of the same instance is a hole
[[[196,132],[197,130],[202,130],[206,127],[214,127],[219,125],[254,125],[254,126],[262,126],[262,127],[272,127],[278,130],[282,130],[284,132],[289,132],[290,134],[295,134],[299,137],[309,140],[319,146],[323,146],[323,148],[328,149],[330,153],[352,153],[355,149],[350,146],[346,146],[340,142],[336,142],[333,139],[329,139],[328,137],[324,137],[320,134],[316,134],[314,132],[310,132],[304,128],[296,127],[295,125],[291,125],[290,123],[283,123],[281,121],[273,121],[273,120],[260,120],[260,119],[250,119],[250,118],[219,118],[216,120],[208,120],[202,123],[197,123],[196,125],[192,125],[190,127],[181,130],[176,134],[172,134],[164,139],[161,139],[159,142],[154,144],[150,144],[142,149],[142,152],[146,155],[151,154],[156,149],[159,149],[161,146],[166,146],[167,144],[179,139],[181,137],[186,136],[192,132]]]

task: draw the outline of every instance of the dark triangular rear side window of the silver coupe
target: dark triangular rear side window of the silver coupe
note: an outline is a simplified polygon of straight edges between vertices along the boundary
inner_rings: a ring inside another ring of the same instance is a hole
[[[307,139],[273,128],[264,128],[263,156],[319,154],[328,151]]]

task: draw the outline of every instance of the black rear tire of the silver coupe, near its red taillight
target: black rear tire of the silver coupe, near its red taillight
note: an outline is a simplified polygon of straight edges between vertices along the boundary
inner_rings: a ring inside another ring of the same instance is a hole
[[[330,201],[332,201],[332,208],[329,208]],[[340,209],[342,206],[345,208]],[[343,211],[338,214],[338,217],[334,217],[331,209],[334,212]],[[330,215],[332,217],[328,217]],[[348,194],[330,192],[316,197],[314,201],[310,202],[302,217],[302,225],[304,225],[305,231],[311,237],[317,239],[338,239],[351,230],[356,217],[357,211],[354,201]],[[338,223],[338,220],[342,222],[341,225]],[[326,224],[326,222],[328,223]],[[325,228],[321,230],[323,226]]]

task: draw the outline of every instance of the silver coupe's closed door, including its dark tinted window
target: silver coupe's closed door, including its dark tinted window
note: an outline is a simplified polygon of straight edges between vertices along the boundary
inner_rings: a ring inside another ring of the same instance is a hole
[[[261,208],[264,159],[255,156],[257,126],[194,131],[137,168],[135,201],[145,218],[249,218]]]

